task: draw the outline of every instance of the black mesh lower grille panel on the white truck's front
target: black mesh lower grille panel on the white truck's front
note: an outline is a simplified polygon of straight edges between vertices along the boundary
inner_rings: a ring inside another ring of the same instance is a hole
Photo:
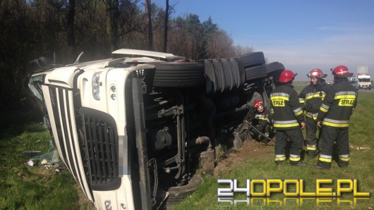
[[[80,112],[92,190],[115,190],[120,185],[116,123],[101,111],[83,107]]]

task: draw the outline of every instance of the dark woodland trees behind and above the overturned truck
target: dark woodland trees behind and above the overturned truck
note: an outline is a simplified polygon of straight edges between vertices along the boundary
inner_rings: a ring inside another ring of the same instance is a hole
[[[165,0],[0,1],[0,110],[27,109],[28,63],[45,56],[54,63],[108,58],[121,48],[164,51],[198,60],[251,52],[234,45],[212,18],[188,13],[171,16]]]

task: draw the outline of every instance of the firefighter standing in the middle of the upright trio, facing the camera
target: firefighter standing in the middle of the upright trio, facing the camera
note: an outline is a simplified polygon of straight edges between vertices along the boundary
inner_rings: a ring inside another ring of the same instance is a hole
[[[306,118],[306,152],[309,159],[314,159],[318,156],[318,141],[320,135],[316,135],[318,127],[316,124],[318,111],[322,104],[325,95],[330,91],[331,85],[327,84],[324,79],[327,74],[322,73],[322,70],[315,68],[310,70],[306,75],[310,78],[310,84],[298,94],[300,104],[303,104]]]

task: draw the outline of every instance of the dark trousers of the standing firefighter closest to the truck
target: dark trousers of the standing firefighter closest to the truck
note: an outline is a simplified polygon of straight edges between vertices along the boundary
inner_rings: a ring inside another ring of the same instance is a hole
[[[277,130],[275,132],[275,161],[284,161],[286,157],[287,139],[291,142],[289,148],[290,163],[298,163],[300,161],[301,149],[303,149],[303,132],[300,128],[292,130]],[[282,158],[284,156],[284,158]]]

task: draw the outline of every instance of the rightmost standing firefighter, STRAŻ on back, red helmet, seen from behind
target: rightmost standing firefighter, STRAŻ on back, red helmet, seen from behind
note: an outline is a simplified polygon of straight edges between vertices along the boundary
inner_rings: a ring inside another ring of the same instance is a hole
[[[330,169],[332,163],[332,150],[334,142],[337,144],[339,167],[349,165],[348,127],[351,113],[357,105],[358,92],[348,81],[353,73],[349,73],[346,66],[337,66],[332,69],[334,84],[327,92],[325,100],[320,107],[317,117],[317,126],[322,129],[322,149],[317,169]]]

